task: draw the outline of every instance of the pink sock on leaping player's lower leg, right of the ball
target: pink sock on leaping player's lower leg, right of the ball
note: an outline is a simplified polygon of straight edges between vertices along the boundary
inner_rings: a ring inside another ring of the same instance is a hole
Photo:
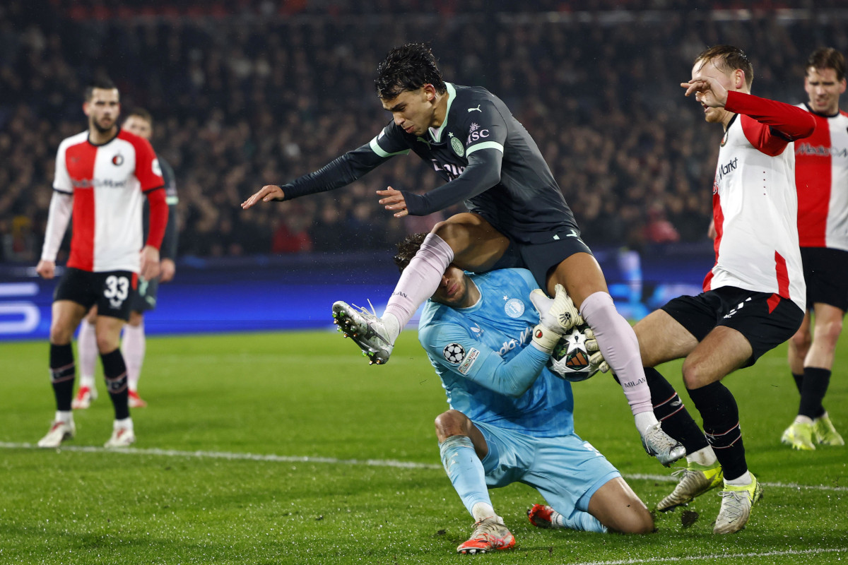
[[[612,372],[621,382],[633,415],[653,412],[639,356],[639,341],[628,321],[616,310],[612,296],[595,292],[583,301],[580,313],[592,327],[606,363],[610,363]]]

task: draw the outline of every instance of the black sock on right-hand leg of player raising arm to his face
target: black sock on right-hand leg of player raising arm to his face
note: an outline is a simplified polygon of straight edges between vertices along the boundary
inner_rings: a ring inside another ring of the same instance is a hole
[[[699,389],[687,389],[692,402],[704,420],[706,440],[722,464],[724,478],[737,479],[748,470],[745,446],[739,429],[739,407],[736,399],[721,382]]]

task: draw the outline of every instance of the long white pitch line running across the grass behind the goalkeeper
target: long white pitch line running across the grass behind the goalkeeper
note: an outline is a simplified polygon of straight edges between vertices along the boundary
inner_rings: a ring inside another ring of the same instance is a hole
[[[31,443],[9,443],[0,441],[0,449],[41,449]],[[329,463],[336,465],[361,465],[365,467],[393,467],[410,469],[441,469],[435,463],[415,463],[395,461],[393,459],[337,459],[336,457],[308,457],[290,455],[263,455],[259,453],[233,453],[230,451],[180,451],[176,449],[123,447],[110,448],[96,446],[61,446],[58,451],[78,451],[82,453],[124,453],[126,455],[153,455],[159,457],[192,457],[201,459],[226,459],[229,461],[271,461],[275,463]],[[656,480],[662,483],[675,483],[678,479],[662,474],[626,474],[625,479]],[[798,485],[796,483],[763,483],[769,488],[794,490],[833,490],[848,492],[848,486]]]

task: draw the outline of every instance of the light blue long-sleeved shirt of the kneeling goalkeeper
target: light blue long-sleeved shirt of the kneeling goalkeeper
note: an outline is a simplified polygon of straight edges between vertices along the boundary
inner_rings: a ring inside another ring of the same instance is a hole
[[[574,433],[571,385],[530,346],[538,288],[526,269],[468,274],[480,291],[472,307],[427,301],[418,339],[442,379],[450,407],[475,422],[536,437]]]

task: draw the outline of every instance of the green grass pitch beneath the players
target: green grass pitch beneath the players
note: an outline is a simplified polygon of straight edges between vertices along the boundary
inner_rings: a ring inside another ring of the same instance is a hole
[[[534,529],[525,512],[540,496],[511,485],[492,498],[516,549],[458,556],[472,520],[439,464],[432,421],[447,404],[415,331],[384,367],[324,331],[148,338],[149,407],[133,411],[124,452],[102,448],[102,383],[67,448],[33,447],[53,416],[47,343],[3,344],[0,563],[848,562],[848,448],[780,445],[798,401],[785,354],[725,380],[765,485],[739,534],[712,535],[715,492],[689,506],[687,528],[678,509],[651,535]],[[682,391],[678,368],[662,370]],[[605,375],[573,388],[577,433],[656,505],[671,469],[644,454],[620,388]],[[848,435],[845,339],[826,405]]]

